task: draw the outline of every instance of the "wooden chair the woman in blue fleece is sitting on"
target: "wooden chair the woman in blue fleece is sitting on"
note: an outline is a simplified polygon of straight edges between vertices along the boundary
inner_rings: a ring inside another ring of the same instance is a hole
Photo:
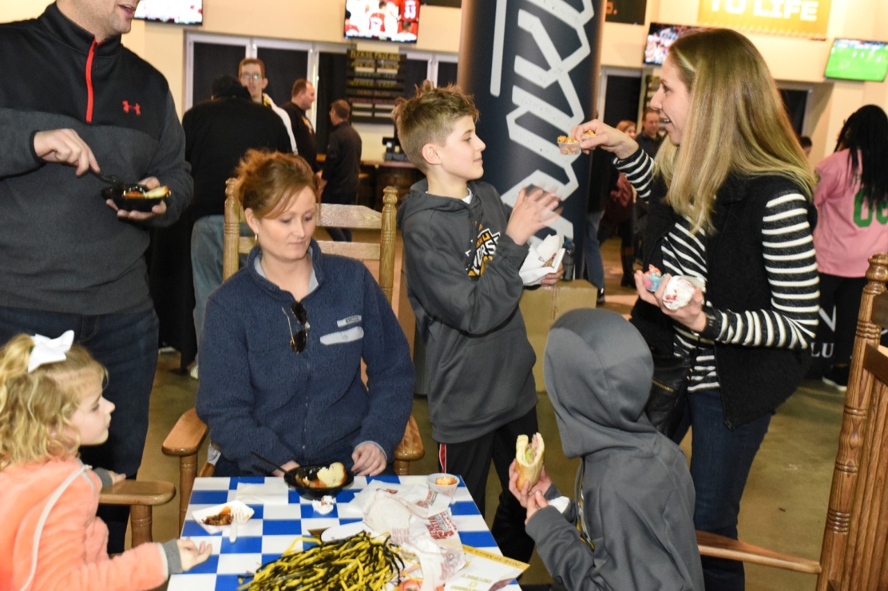
[[[361,205],[321,204],[318,226],[379,231],[379,242],[335,242],[318,240],[321,251],[328,254],[351,256],[361,260],[379,261],[379,286],[392,303],[395,260],[395,204],[398,201],[396,187],[387,186],[383,195],[382,213]],[[250,252],[256,243],[253,237],[241,236],[243,211],[234,199],[234,179],[226,184],[225,238],[223,240],[222,277],[227,279],[240,266],[239,256]],[[406,305],[406,303],[402,304]],[[197,453],[201,448],[207,426],[198,418],[194,408],[179,417],[170,434],[163,441],[163,453],[179,458],[179,527],[185,522],[188,500],[197,472]],[[409,462],[421,459],[425,454],[413,415],[407,423],[404,438],[394,452],[394,470],[399,475],[409,473]],[[213,466],[204,464],[200,476],[212,476]]]

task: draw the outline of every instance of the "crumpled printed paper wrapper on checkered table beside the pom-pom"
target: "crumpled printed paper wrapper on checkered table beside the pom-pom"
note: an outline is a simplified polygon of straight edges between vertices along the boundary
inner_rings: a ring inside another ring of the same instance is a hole
[[[388,532],[393,544],[416,556],[423,570],[422,591],[434,591],[465,566],[448,496],[423,485],[370,481],[353,504],[364,523]]]

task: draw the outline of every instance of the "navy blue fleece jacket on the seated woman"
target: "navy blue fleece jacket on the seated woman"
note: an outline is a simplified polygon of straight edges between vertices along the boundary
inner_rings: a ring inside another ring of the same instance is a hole
[[[377,281],[360,261],[323,255],[314,240],[309,253],[317,287],[302,299],[310,328],[298,355],[289,345],[290,327],[302,327],[293,296],[257,272],[258,247],[207,302],[197,414],[248,473],[268,470],[250,452],[278,464],[328,463],[365,441],[392,461],[413,406],[407,339]]]

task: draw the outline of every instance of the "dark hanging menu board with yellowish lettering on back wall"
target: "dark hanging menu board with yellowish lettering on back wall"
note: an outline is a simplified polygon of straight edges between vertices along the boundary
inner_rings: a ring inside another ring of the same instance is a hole
[[[404,94],[400,53],[350,50],[345,92],[352,103],[352,121],[391,123],[395,98]]]

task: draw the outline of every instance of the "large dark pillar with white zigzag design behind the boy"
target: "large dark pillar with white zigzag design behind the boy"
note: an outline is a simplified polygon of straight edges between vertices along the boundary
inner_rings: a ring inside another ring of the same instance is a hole
[[[595,112],[604,0],[463,0],[457,80],[480,110],[484,180],[503,201],[521,187],[564,201],[551,229],[583,252],[591,159],[556,140]],[[579,270],[578,270],[579,272]]]

